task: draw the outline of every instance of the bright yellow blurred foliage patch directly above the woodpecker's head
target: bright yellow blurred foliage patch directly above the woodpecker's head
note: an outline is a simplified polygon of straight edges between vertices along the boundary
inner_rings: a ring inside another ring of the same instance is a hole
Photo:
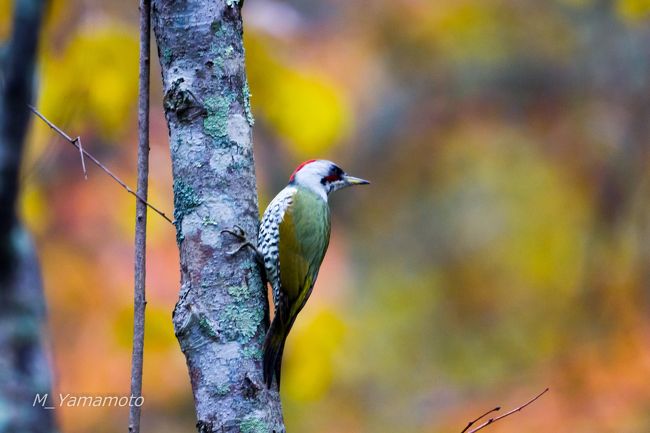
[[[283,64],[255,36],[245,42],[252,106],[289,151],[300,158],[322,155],[345,137],[353,115],[333,82]]]

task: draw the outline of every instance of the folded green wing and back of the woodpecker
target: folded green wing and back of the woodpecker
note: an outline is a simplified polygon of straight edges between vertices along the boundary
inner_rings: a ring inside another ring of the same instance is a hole
[[[311,191],[298,191],[280,224],[280,284],[291,319],[311,294],[329,237],[327,203]]]

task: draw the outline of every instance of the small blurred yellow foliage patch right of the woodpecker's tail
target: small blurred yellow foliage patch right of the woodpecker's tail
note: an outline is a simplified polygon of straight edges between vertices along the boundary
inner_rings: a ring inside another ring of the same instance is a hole
[[[306,319],[306,320],[305,320]],[[345,324],[334,310],[322,308],[290,334],[282,377],[283,391],[292,400],[313,401],[323,396],[332,382],[333,357],[341,346]]]

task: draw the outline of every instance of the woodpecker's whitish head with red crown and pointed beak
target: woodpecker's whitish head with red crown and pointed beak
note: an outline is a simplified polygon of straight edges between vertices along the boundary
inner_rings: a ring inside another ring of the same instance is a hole
[[[289,183],[309,188],[327,198],[327,194],[346,186],[365,185],[370,182],[348,175],[331,161],[310,159],[294,170]]]

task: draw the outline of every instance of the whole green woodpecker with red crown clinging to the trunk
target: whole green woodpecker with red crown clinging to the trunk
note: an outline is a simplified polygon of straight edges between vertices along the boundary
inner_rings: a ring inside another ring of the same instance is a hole
[[[275,376],[280,388],[282,352],[287,335],[314,287],[330,239],[328,194],[367,180],[346,174],[331,161],[312,159],[300,164],[289,184],[268,205],[260,222],[257,247],[243,231],[224,230],[252,247],[264,263],[273,290],[275,315],[264,340],[264,382]]]

